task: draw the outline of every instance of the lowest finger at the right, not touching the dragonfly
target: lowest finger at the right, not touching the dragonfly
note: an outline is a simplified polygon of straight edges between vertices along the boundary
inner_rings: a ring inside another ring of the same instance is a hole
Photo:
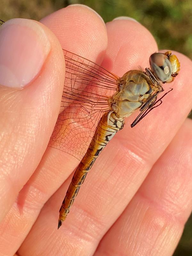
[[[172,255],[192,209],[192,121],[187,119],[97,255]]]

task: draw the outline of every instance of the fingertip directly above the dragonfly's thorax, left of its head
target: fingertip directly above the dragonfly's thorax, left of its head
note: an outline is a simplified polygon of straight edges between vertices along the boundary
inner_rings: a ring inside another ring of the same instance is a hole
[[[149,66],[149,56],[158,48],[147,28],[129,17],[112,20],[106,27],[107,55],[114,62],[112,72],[122,76],[127,70]]]

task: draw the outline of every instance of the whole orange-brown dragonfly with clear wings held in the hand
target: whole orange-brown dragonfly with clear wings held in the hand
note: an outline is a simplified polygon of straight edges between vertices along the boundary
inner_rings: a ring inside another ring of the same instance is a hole
[[[1,20],[1,24],[4,21]],[[179,60],[170,51],[153,53],[150,68],[130,70],[116,76],[100,65],[63,50],[66,65],[60,114],[49,146],[75,156],[76,168],[60,207],[58,228],[83,184],[87,173],[108,142],[123,129],[124,118],[140,109],[135,126],[162,103],[162,84],[170,83],[180,70]],[[159,98],[159,99],[158,99]]]

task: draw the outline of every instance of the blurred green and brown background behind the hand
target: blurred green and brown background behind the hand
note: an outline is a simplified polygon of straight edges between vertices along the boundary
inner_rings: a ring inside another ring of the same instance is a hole
[[[0,19],[40,20],[69,4],[88,5],[105,22],[118,16],[132,17],[148,28],[159,49],[182,52],[192,59],[192,0],[1,0]],[[192,256],[192,216],[174,256]]]

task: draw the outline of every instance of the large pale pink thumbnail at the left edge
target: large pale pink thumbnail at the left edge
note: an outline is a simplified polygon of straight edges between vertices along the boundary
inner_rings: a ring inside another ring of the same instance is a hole
[[[22,88],[41,70],[51,49],[33,20],[12,19],[0,27],[0,85]]]

